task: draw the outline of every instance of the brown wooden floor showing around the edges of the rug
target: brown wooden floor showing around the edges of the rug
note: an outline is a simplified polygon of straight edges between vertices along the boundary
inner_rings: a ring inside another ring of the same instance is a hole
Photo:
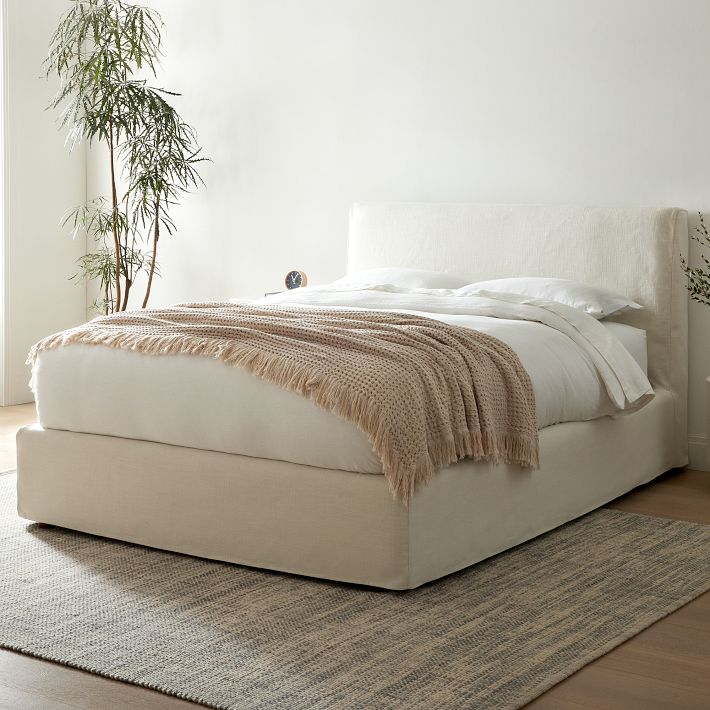
[[[14,468],[14,432],[31,406],[0,408],[0,470]],[[610,505],[710,524],[710,473],[675,471]],[[511,669],[514,672],[514,669]],[[64,666],[0,650],[0,708],[128,710],[199,707]],[[708,710],[710,593],[589,664],[528,710]],[[406,710],[403,703],[402,710]]]

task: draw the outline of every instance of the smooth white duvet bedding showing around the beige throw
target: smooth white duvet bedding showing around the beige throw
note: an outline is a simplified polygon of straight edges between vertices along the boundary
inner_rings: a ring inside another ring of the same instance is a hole
[[[404,310],[489,333],[510,345],[530,374],[540,427],[632,411],[653,396],[642,331],[552,301],[323,286],[263,302]],[[33,383],[45,428],[381,472],[354,425],[219,361],[75,344],[42,351]]]

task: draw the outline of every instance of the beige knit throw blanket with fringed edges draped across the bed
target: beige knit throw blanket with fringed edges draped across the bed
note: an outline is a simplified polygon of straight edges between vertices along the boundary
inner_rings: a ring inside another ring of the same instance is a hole
[[[28,362],[70,343],[214,358],[308,397],[368,435],[405,502],[462,458],[538,466],[535,398],[517,355],[423,316],[188,303],[95,318],[40,341]]]

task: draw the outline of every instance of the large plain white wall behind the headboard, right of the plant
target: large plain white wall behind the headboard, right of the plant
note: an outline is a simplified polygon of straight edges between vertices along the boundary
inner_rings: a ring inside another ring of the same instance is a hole
[[[214,164],[154,303],[343,272],[356,200],[710,207],[706,0],[153,0]],[[704,443],[710,312],[692,309]]]

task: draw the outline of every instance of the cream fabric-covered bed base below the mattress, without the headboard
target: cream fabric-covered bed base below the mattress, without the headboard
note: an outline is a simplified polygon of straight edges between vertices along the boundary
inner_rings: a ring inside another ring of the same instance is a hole
[[[674,402],[540,432],[537,471],[462,461],[408,507],[382,475],[25,427],[18,512],[150,547],[411,589],[572,520],[686,463]]]

